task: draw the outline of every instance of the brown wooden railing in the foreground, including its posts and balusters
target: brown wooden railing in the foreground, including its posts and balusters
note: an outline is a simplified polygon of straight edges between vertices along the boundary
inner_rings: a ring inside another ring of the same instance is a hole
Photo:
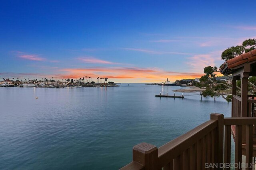
[[[218,113],[213,113],[210,117],[209,121],[159,148],[148,143],[134,146],[133,161],[121,170],[199,170],[207,168],[210,163],[217,166],[220,163],[231,163],[231,125],[236,125],[236,163],[242,163],[242,125],[246,126],[246,162],[250,165],[252,125],[255,124],[256,117],[224,118]]]

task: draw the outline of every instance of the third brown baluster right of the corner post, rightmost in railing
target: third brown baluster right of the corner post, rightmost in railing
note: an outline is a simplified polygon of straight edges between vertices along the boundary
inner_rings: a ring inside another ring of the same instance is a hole
[[[252,163],[252,138],[253,138],[253,126],[246,125],[246,163],[248,166]],[[246,170],[252,170],[252,168],[246,168]]]

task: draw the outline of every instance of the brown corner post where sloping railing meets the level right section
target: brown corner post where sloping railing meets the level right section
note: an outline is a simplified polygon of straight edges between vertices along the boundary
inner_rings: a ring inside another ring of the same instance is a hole
[[[215,162],[220,164],[223,163],[223,136],[224,136],[224,116],[218,113],[212,113],[211,119],[217,120],[217,139],[216,139],[216,160]],[[220,168],[219,168],[220,169]]]

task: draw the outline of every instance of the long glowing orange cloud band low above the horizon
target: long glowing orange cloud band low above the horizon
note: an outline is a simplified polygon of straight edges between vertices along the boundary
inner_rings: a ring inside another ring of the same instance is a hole
[[[56,75],[61,78],[108,77],[116,79],[130,79],[139,82],[162,82],[166,78],[177,79],[196,78],[204,74],[196,72],[168,72],[157,68],[138,67],[92,67],[92,68],[65,68],[59,70],[63,74]]]

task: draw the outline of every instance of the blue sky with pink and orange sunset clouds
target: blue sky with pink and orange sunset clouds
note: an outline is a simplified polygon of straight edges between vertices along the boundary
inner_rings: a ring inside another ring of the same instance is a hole
[[[256,38],[253,0],[0,1],[0,78],[164,82]]]

